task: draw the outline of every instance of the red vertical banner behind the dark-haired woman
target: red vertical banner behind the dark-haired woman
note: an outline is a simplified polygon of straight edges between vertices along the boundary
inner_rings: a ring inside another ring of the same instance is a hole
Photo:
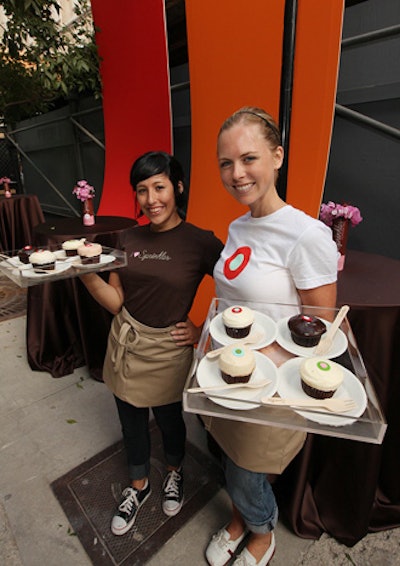
[[[105,171],[97,214],[134,217],[129,184],[145,151],[172,151],[163,0],[91,0],[101,57]]]

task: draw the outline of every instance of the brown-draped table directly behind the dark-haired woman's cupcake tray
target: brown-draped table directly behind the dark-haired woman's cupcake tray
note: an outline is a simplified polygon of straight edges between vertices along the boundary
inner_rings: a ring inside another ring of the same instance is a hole
[[[119,216],[97,216],[94,226],[83,226],[80,218],[63,218],[36,226],[34,245],[86,238],[115,248],[119,234],[136,224]],[[107,278],[108,273],[100,276]],[[90,376],[101,381],[111,320],[77,277],[29,287],[26,344],[31,369],[62,377],[87,365]]]

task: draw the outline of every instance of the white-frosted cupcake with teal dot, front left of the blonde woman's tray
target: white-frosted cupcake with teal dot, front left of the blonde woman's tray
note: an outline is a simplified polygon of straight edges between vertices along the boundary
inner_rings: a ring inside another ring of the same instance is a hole
[[[247,383],[256,367],[253,350],[246,346],[226,346],[219,358],[218,366],[226,383]]]

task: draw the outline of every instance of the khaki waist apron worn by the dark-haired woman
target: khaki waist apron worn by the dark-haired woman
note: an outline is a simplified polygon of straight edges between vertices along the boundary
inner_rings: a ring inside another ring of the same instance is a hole
[[[177,346],[174,328],[141,324],[122,307],[111,324],[103,366],[103,380],[116,397],[136,407],[182,399],[193,347]]]

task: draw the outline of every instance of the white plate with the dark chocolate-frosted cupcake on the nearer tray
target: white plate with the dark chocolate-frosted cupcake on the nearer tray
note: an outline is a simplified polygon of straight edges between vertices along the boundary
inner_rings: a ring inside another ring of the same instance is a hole
[[[278,344],[296,356],[312,357],[321,338],[327,332],[331,323],[323,318],[308,314],[297,314],[282,318],[277,322],[276,341]],[[336,358],[347,349],[345,333],[338,329],[326,358]]]

